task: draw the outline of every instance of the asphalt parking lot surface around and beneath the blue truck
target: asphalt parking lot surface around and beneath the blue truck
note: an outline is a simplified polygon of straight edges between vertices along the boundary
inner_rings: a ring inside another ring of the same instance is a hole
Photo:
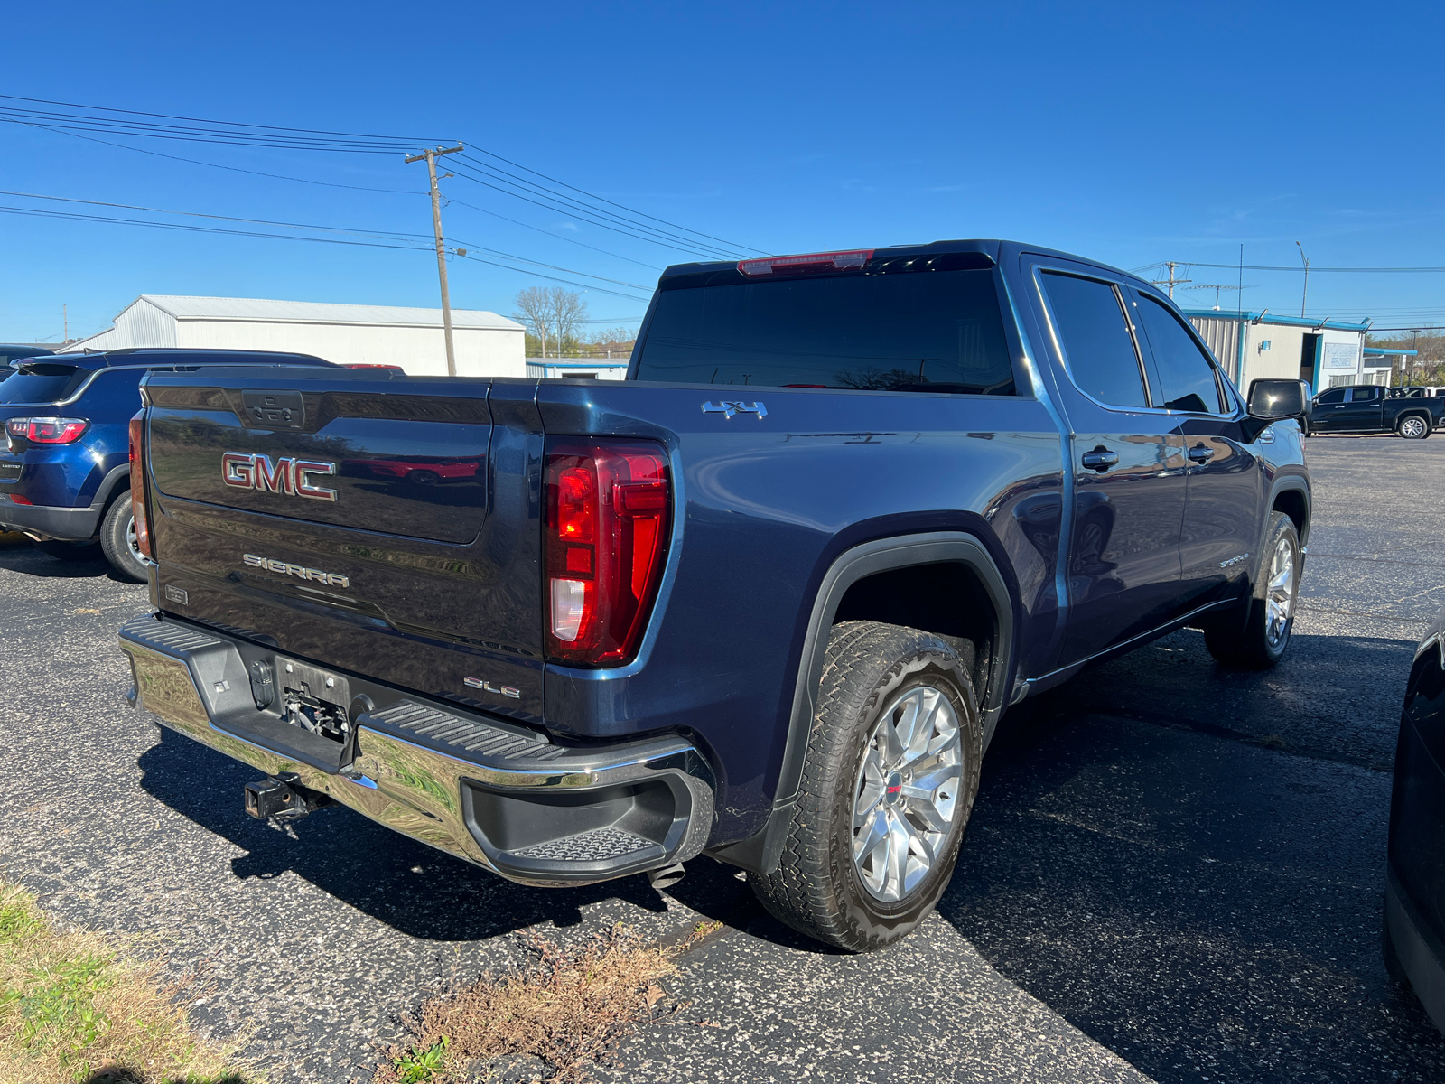
[[[1445,604],[1445,436],[1315,438],[1286,661],[1220,671],[1181,632],[1016,710],[958,873],[905,944],[847,957],[698,860],[659,895],[507,885],[345,809],[282,830],[256,773],[123,704],[144,588],[0,549],[0,872],[65,919],[144,934],[251,1029],[276,1081],[367,1078],[371,1044],[519,931],[724,932],[616,1081],[1426,1081],[1445,1039],[1379,958],[1400,698]]]

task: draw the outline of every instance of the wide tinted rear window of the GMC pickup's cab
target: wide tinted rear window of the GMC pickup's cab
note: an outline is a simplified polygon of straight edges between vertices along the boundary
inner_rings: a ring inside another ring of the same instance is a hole
[[[663,283],[639,380],[1014,395],[991,270]]]

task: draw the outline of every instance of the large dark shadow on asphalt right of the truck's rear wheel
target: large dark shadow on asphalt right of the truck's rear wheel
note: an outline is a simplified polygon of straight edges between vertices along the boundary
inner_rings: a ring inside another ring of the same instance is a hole
[[[1415,645],[1298,639],[1241,675],[1176,633],[1016,708],[939,905],[1159,1081],[1445,1078],[1380,961],[1384,750]]]

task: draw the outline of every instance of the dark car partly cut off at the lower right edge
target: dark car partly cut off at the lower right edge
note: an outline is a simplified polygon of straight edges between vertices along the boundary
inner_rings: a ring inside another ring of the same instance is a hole
[[[1400,714],[1384,885],[1384,963],[1445,1031],[1445,616],[1415,652]]]

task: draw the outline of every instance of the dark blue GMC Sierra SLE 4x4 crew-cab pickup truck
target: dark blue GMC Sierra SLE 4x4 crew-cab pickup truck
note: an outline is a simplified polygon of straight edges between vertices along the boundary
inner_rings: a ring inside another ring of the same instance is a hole
[[[131,700],[527,885],[747,870],[847,950],[948,885],[1006,710],[1182,626],[1285,652],[1293,380],[1009,241],[669,267],[627,382],[150,373]]]

